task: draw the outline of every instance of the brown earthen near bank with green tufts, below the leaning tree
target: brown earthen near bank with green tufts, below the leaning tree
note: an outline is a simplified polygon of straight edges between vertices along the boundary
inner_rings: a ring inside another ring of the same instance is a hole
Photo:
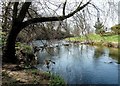
[[[64,80],[48,72],[42,72],[35,68],[19,68],[14,64],[5,64],[2,68],[2,85],[42,85],[42,86],[65,86]]]

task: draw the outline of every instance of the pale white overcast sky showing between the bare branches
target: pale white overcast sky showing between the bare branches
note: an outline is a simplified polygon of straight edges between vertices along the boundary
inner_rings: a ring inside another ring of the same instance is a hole
[[[23,0],[24,1],[24,0]],[[39,1],[39,0],[37,0]],[[52,2],[53,4],[57,4],[60,5],[59,3],[64,3],[65,0],[40,0],[40,2],[43,2],[43,8],[49,8],[49,10],[47,10],[47,13],[52,13],[52,11],[50,11],[50,9],[57,9],[56,6],[50,4],[50,3],[45,3],[45,1],[49,1]],[[66,7],[66,14],[69,13],[70,11],[74,10],[77,5],[79,4],[79,2],[82,0],[67,0],[67,7]],[[88,0],[83,0],[85,2],[87,2]],[[75,3],[77,2],[77,3]],[[108,3],[109,2],[109,3]],[[99,9],[100,9],[100,20],[101,22],[104,23],[104,25],[106,27],[111,27],[115,24],[118,24],[118,2],[119,0],[92,0],[91,3],[95,4]],[[48,4],[48,7],[45,7],[45,4]],[[37,8],[42,9],[41,4],[36,5]],[[61,9],[59,9],[57,11],[57,15],[62,15],[62,6],[60,6]],[[91,20],[89,20],[89,24],[91,26],[93,26],[97,20],[97,10],[95,8],[93,8],[92,6],[89,5],[89,11],[91,12],[90,16],[87,17],[91,17]],[[0,11],[1,11],[1,6],[0,6]],[[43,12],[43,15],[45,14],[44,10],[40,11],[41,13]],[[51,15],[52,16],[52,15]]]

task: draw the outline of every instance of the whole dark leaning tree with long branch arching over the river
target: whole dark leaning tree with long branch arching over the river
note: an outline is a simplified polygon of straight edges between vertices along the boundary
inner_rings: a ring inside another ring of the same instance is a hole
[[[9,31],[7,40],[6,40],[6,47],[3,51],[3,61],[10,62],[10,63],[16,63],[17,58],[15,57],[15,42],[16,37],[20,33],[22,29],[25,27],[35,24],[35,23],[42,23],[42,22],[50,22],[50,21],[62,21],[65,20],[80,10],[82,10],[84,7],[86,7],[91,0],[88,0],[85,4],[83,4],[83,0],[79,3],[79,5],[76,7],[75,10],[69,12],[68,14],[66,12],[66,3],[67,0],[63,3],[63,9],[62,9],[62,15],[57,16],[47,16],[47,17],[36,17],[31,19],[26,19],[26,14],[28,12],[28,9],[32,2],[24,2],[22,5],[20,2],[12,2],[12,25],[11,30]],[[21,5],[21,6],[19,6]]]

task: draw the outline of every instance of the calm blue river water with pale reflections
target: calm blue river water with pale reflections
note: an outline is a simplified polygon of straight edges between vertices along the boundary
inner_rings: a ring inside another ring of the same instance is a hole
[[[60,75],[68,84],[118,84],[118,50],[71,44],[51,46],[38,53],[37,68]],[[41,46],[40,41],[34,43]],[[55,45],[56,43],[49,43]],[[47,69],[45,59],[51,59]]]

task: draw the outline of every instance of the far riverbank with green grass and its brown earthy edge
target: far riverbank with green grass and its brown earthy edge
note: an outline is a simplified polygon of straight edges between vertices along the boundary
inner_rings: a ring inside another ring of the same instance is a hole
[[[72,43],[81,43],[81,44],[90,44],[90,45],[100,45],[113,48],[119,48],[119,35],[98,35],[98,34],[89,34],[87,36],[71,37],[66,38],[66,41]]]

